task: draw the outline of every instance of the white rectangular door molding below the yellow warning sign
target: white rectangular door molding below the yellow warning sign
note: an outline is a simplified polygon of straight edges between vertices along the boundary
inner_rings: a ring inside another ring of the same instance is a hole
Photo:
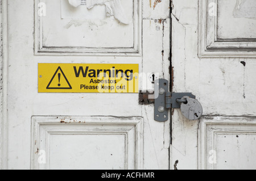
[[[53,148],[50,149],[50,147],[54,142],[52,141],[53,138],[59,135],[69,138],[77,136],[82,136],[83,138],[88,136],[91,138],[94,136],[111,137],[113,135],[122,137],[125,140],[123,143],[124,150],[122,150],[122,153],[124,153],[124,158],[122,158],[124,169],[143,169],[142,117],[32,116],[31,122],[31,169],[33,170],[51,169],[49,163],[51,162],[50,154]],[[111,142],[112,140],[108,141]],[[55,142],[54,144],[59,143]],[[82,143],[80,145],[81,148],[85,146]],[[42,150],[43,152],[40,153]],[[86,150],[86,153],[88,153],[88,149]],[[109,151],[108,148],[105,148],[105,150],[98,148],[98,150],[100,151],[99,153]],[[42,154],[45,154],[45,156]],[[45,157],[45,163],[43,164],[39,162],[42,156]],[[100,155],[97,157],[100,157]]]

